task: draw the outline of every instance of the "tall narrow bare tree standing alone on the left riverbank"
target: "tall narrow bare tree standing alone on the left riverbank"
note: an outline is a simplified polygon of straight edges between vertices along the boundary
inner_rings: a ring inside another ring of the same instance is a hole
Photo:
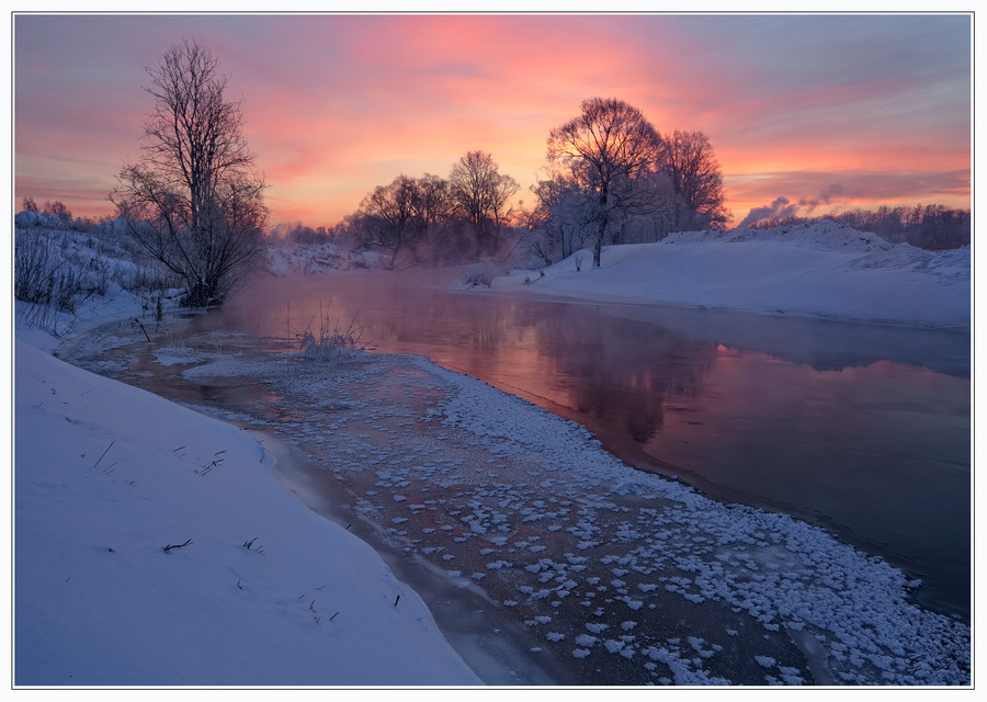
[[[242,129],[240,102],[201,44],[169,47],[145,87],[155,107],[143,158],[110,200],[148,253],[186,285],[184,303],[222,302],[253,263],[266,226],[266,186]]]

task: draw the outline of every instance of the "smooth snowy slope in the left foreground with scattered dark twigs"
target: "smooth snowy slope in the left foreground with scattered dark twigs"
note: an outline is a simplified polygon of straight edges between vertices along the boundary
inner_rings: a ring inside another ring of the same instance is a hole
[[[14,418],[15,686],[479,682],[246,432],[23,341]]]

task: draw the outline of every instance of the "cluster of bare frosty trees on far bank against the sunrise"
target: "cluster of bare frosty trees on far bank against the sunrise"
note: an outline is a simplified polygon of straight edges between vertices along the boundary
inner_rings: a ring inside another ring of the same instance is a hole
[[[723,174],[702,132],[661,136],[616,99],[583,101],[553,129],[533,202],[511,205],[520,186],[490,154],[470,151],[449,178],[400,174],[370,191],[334,234],[389,254],[389,264],[496,258],[523,245],[545,264],[604,244],[655,241],[679,229],[729,223]]]

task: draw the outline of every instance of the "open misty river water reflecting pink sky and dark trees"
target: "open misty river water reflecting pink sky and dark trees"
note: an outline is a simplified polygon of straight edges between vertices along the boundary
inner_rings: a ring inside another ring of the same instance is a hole
[[[321,325],[576,420],[620,457],[785,511],[969,611],[969,337],[454,292],[460,271],[260,276],[196,324],[295,343]]]

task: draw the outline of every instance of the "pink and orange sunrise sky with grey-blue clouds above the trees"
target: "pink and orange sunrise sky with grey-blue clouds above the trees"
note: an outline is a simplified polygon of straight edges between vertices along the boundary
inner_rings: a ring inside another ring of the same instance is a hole
[[[700,131],[727,208],[971,206],[968,14],[16,14],[13,210],[112,214],[143,89],[204,44],[242,100],[271,223],[332,225],[399,174],[473,150],[521,183],[589,98]]]

